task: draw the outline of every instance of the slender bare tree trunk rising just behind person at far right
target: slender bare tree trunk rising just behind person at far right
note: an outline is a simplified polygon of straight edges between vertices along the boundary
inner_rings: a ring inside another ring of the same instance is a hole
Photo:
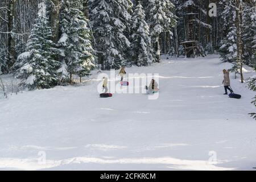
[[[242,3],[236,0],[236,28],[237,28],[237,64],[240,65],[241,83],[243,83],[242,61]]]

